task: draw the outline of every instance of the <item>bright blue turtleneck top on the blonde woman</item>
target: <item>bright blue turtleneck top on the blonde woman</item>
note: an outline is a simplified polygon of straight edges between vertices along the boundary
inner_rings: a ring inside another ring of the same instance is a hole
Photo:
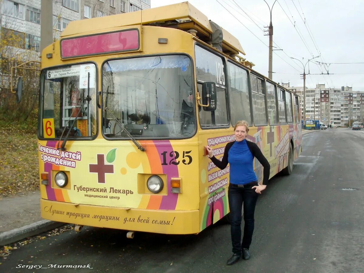
[[[230,183],[241,185],[257,180],[253,170],[253,159],[246,139],[234,142],[228,153]]]

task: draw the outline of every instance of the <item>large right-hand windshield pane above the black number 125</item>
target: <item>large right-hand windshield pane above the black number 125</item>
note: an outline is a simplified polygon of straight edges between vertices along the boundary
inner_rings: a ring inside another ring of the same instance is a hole
[[[185,55],[110,60],[102,68],[106,138],[189,138],[195,132],[191,60]]]

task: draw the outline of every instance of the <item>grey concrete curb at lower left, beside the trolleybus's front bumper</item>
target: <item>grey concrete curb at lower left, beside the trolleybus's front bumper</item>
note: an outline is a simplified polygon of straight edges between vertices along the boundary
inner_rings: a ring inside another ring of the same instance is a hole
[[[51,229],[55,229],[56,227],[63,225],[66,225],[66,223],[50,220],[41,220],[30,225],[19,227],[17,229],[5,231],[0,234],[0,246],[12,244],[24,238],[31,237]]]

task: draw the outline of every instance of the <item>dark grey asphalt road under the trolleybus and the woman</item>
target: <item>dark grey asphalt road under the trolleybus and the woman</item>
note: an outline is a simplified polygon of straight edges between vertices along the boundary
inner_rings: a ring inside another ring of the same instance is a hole
[[[271,179],[258,200],[248,261],[226,265],[230,226],[223,222],[198,235],[137,233],[132,240],[123,231],[86,227],[18,245],[1,261],[0,271],[89,265],[78,271],[364,272],[364,130],[315,131],[302,141],[293,174]]]

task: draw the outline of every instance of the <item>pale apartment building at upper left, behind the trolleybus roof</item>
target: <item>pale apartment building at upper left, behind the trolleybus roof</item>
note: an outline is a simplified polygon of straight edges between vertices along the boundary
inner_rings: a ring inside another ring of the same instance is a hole
[[[49,0],[53,3],[54,38],[70,21],[150,8],[150,0]],[[39,52],[41,0],[2,0],[1,33],[15,33],[17,47]],[[37,54],[39,55],[39,54]]]

